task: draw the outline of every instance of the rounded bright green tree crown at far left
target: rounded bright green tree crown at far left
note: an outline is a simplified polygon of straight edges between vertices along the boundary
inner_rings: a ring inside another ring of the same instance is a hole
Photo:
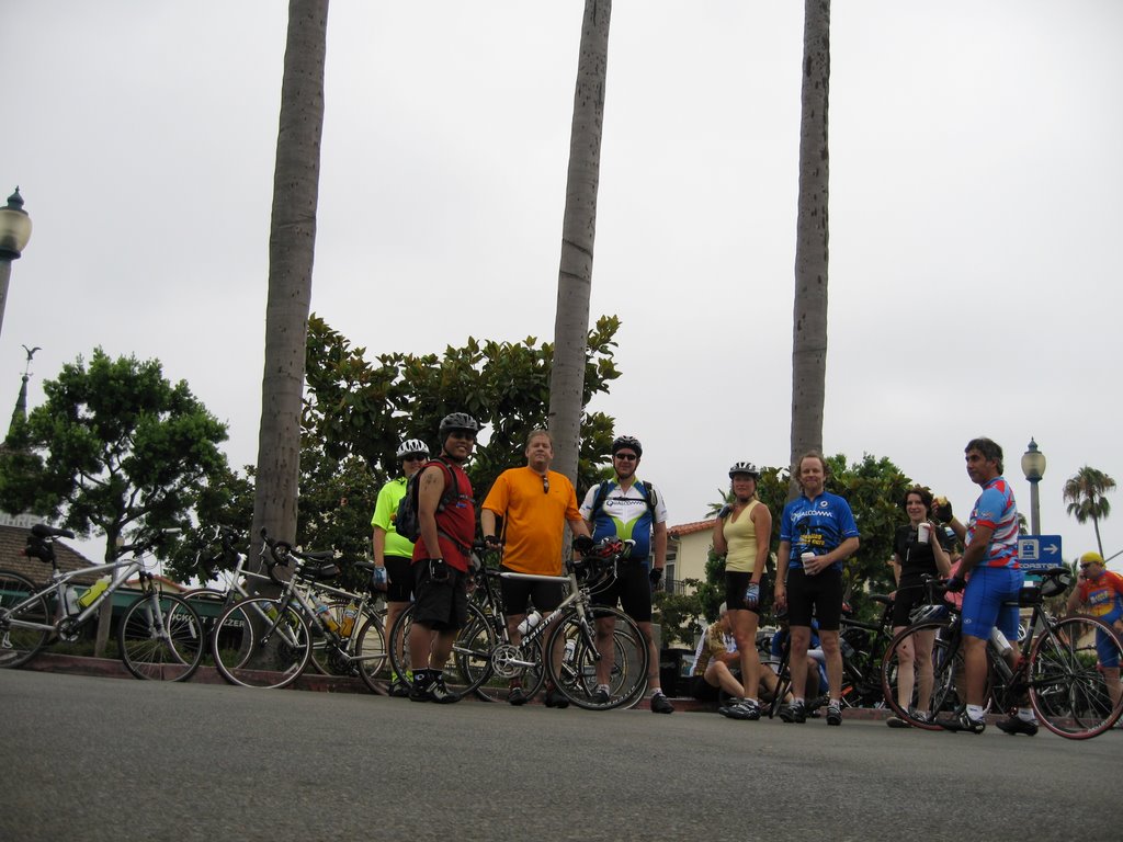
[[[158,360],[110,359],[97,348],[43,384],[17,439],[0,456],[0,506],[31,511],[74,532],[118,538],[185,527],[229,474],[219,450],[226,425]]]

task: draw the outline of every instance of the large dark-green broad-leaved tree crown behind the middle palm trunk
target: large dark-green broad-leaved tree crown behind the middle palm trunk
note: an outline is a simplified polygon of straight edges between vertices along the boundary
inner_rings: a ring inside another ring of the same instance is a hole
[[[588,332],[586,408],[620,376],[612,358],[619,327],[615,317],[602,317]],[[322,319],[309,320],[304,451],[314,442],[328,461],[358,457],[375,485],[396,469],[394,452],[402,439],[421,439],[436,451],[440,419],[463,411],[486,427],[467,466],[482,500],[500,473],[523,464],[527,434],[547,427],[554,356],[549,342],[539,344],[533,337],[517,344],[469,337],[464,347],[449,346],[440,356],[383,354],[371,364],[365,355],[365,348],[351,347]],[[586,409],[578,489],[596,482],[597,466],[611,442],[612,419]]]

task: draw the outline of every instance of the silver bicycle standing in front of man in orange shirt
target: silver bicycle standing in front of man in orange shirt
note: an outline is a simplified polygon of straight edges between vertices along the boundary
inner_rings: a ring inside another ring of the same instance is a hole
[[[568,584],[568,594],[549,615],[529,629],[519,646],[509,642],[505,620],[501,611],[485,614],[477,605],[468,604],[468,621],[453,644],[451,669],[446,670],[446,685],[462,696],[475,693],[492,678],[523,681],[528,697],[537,694],[549,677],[562,694],[573,704],[586,710],[611,710],[638,702],[647,687],[647,642],[636,622],[617,608],[592,604],[591,594],[610,576],[615,565],[630,549],[630,542],[605,539],[592,552],[566,562],[564,576],[539,576],[512,571],[484,573],[483,582],[494,600],[489,576],[528,582],[558,582]],[[496,605],[497,603],[492,603]],[[402,613],[391,630],[391,642],[408,640],[413,607]],[[612,668],[608,701],[596,699],[595,621],[612,616],[617,620],[613,635]],[[399,647],[391,646],[391,660],[399,676],[409,675],[405,662],[398,660]],[[547,657],[554,653],[554,657]],[[545,668],[544,668],[545,666]],[[495,695],[492,695],[492,694]],[[497,701],[501,689],[485,690],[490,701]]]

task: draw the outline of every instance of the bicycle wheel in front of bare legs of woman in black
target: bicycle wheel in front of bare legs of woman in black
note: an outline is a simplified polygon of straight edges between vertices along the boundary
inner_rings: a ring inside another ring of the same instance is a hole
[[[917,652],[929,655],[917,657]],[[959,631],[946,620],[903,629],[889,642],[882,660],[885,703],[910,725],[925,731],[942,730],[934,722],[937,715],[957,713],[966,704],[962,680]],[[917,715],[917,711],[926,711],[926,715]]]

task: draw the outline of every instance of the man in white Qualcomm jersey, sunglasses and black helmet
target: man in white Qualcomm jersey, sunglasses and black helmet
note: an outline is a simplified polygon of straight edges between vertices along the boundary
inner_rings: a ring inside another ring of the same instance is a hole
[[[636,476],[642,455],[642,446],[631,436],[613,441],[615,476],[588,489],[581,515],[588,523],[594,541],[617,536],[636,542],[628,561],[618,566],[617,578],[594,595],[594,602],[611,607],[619,603],[639,625],[647,638],[650,656],[647,681],[651,690],[651,711],[674,713],[659,684],[659,652],[651,637],[651,591],[659,587],[667,565],[667,507],[658,489]],[[615,655],[614,628],[614,617],[596,621],[596,648],[601,659],[596,663],[595,694],[603,697],[602,702],[609,701],[609,676]]]

